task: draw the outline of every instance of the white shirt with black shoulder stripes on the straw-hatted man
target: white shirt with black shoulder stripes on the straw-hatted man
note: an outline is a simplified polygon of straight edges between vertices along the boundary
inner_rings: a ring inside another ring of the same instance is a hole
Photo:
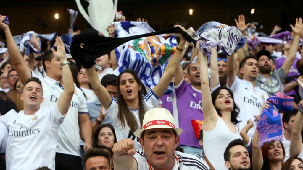
[[[138,170],[154,170],[147,161],[143,149],[137,150],[133,157],[137,161]],[[175,151],[174,157],[174,166],[171,170],[208,170],[208,168],[194,155]]]

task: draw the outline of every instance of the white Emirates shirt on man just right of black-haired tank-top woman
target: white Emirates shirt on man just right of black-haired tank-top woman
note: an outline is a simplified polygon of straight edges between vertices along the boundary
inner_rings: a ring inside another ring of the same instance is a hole
[[[251,82],[241,80],[238,76],[235,77],[232,86],[228,88],[234,93],[235,103],[240,109],[237,119],[242,121],[239,123],[239,128],[242,129],[247,125],[248,119],[254,121],[254,115],[260,114],[260,109],[268,99],[268,94],[259,87],[255,87],[254,89]],[[254,126],[248,131],[247,135],[253,137],[255,129],[256,123],[254,122]]]

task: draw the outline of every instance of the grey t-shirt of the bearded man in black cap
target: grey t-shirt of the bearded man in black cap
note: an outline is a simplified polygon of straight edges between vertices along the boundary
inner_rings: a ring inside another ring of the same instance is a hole
[[[255,84],[261,89],[265,90],[268,93],[268,96],[272,96],[277,92],[284,94],[283,80],[285,79],[285,71],[280,67],[278,70],[275,70],[269,78],[258,75]]]

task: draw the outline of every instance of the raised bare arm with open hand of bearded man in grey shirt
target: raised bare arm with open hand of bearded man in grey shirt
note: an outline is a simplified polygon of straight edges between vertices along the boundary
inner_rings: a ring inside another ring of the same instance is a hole
[[[290,46],[289,52],[286,56],[286,59],[282,65],[282,69],[284,70],[285,74],[287,75],[289,72],[289,69],[292,66],[292,63],[295,60],[296,53],[298,51],[298,45],[300,41],[300,34],[303,30],[303,24],[302,24],[302,18],[296,19],[295,27],[293,25],[290,25],[292,28],[292,31],[294,31],[295,36],[293,37],[292,44]]]

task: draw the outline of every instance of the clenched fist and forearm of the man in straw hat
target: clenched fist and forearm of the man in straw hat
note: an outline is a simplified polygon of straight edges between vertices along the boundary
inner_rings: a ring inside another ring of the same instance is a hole
[[[137,170],[138,165],[133,155],[135,155],[135,146],[132,139],[122,139],[113,146],[113,161],[115,169],[119,170]]]

